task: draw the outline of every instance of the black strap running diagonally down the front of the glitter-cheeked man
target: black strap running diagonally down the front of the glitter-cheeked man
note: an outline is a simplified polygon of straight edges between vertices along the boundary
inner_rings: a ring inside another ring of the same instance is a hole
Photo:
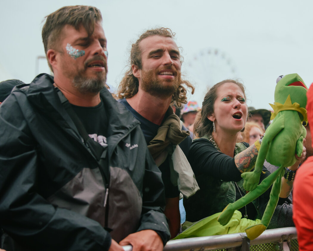
[[[77,114],[74,112],[72,105],[69,103],[69,101],[65,98],[64,94],[60,91],[59,88],[55,87],[55,90],[58,93],[59,99],[73,120],[77,130],[80,133],[80,136],[82,136],[85,144],[90,149],[96,160],[98,161],[100,173],[102,175],[102,179],[105,181],[105,199],[104,199],[104,207],[105,207],[105,230],[108,232],[112,231],[108,227],[108,217],[109,217],[109,186],[110,186],[110,168],[108,163],[108,158],[106,158],[107,149],[102,147],[98,142],[95,142],[92,138],[89,137],[84,125],[80,121]]]

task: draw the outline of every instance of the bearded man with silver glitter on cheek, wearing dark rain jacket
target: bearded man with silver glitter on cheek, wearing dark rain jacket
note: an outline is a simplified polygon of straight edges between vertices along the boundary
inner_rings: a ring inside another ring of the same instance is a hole
[[[101,21],[90,6],[48,15],[54,77],[38,75],[1,104],[0,248],[161,251],[170,237],[139,122],[104,88]]]

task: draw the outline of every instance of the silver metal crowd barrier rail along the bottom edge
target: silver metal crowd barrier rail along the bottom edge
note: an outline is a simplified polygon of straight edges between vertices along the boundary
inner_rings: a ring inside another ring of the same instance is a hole
[[[130,245],[123,246],[125,251],[132,251]],[[163,251],[298,251],[295,227],[265,230],[258,238],[249,240],[246,233],[214,235],[168,241]]]

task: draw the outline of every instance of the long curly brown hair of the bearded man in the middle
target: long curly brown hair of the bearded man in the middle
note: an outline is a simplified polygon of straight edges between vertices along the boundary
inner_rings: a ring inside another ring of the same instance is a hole
[[[131,98],[138,92],[139,82],[138,79],[133,75],[131,65],[136,65],[139,69],[142,68],[141,50],[139,48],[139,43],[141,42],[141,40],[147,37],[156,35],[173,38],[175,36],[175,33],[173,33],[171,29],[163,27],[147,30],[139,37],[136,43],[131,45],[130,67],[129,70],[125,73],[125,76],[123,77],[118,88],[118,97],[120,99]],[[186,87],[184,87],[184,85]],[[191,89],[191,94],[194,93],[193,85],[187,80],[181,80],[181,83],[179,84],[177,90],[172,95],[171,105],[174,103],[174,101],[176,101],[178,107],[180,107],[181,104],[187,103],[187,88]]]

